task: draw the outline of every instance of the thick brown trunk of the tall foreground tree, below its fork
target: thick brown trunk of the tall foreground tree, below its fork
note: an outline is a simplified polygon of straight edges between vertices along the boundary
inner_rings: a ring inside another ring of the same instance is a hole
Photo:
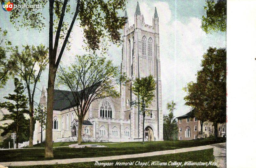
[[[53,115],[53,97],[54,97],[54,83],[56,71],[54,66],[49,64],[48,76],[48,90],[47,90],[47,113],[46,113],[46,129],[45,129],[45,148],[44,157],[53,157],[53,144],[52,144],[52,115]]]

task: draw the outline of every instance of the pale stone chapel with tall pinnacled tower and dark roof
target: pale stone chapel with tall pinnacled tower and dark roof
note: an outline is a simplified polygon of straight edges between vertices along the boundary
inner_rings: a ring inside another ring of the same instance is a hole
[[[126,11],[125,16],[127,17]],[[132,93],[136,77],[153,75],[156,81],[155,98],[149,106],[145,118],[146,141],[163,140],[162,83],[159,46],[159,18],[155,8],[152,26],[145,24],[137,3],[134,24],[128,20],[123,28],[122,72],[127,81],[120,84],[120,96],[108,97],[92,102],[82,126],[82,140],[91,142],[129,142],[142,141],[143,115],[132,101],[137,99]],[[72,104],[71,91],[54,90],[53,141],[77,141],[78,120]],[[47,104],[47,89],[44,87],[39,104]],[[40,142],[41,127],[36,121],[34,143]],[[45,130],[43,131],[43,141]]]

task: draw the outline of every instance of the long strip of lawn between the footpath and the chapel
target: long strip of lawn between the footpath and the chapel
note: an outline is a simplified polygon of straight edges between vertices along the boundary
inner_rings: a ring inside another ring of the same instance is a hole
[[[145,153],[160,150],[173,150],[194,146],[202,146],[213,143],[225,142],[224,139],[206,138],[190,141],[155,141],[155,142],[123,142],[115,144],[104,144],[107,148],[54,148],[53,159],[104,157],[114,155],[125,155]],[[64,145],[65,146],[65,145]],[[18,149],[2,150],[0,162],[45,160],[44,149]]]

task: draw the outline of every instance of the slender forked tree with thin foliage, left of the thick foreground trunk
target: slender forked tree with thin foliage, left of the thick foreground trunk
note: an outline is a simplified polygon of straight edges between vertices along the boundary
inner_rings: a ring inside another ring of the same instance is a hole
[[[33,146],[34,134],[34,97],[37,83],[40,82],[42,72],[48,65],[48,48],[44,45],[23,46],[22,52],[16,46],[11,49],[10,60],[16,64],[12,66],[11,71],[14,75],[21,77],[25,81],[28,91],[29,102],[29,147]]]

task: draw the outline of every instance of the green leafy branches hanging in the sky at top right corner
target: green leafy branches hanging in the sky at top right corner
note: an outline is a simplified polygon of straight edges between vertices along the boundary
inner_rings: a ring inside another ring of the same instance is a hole
[[[227,30],[227,0],[206,0],[206,16],[202,17],[202,29],[206,33]]]

